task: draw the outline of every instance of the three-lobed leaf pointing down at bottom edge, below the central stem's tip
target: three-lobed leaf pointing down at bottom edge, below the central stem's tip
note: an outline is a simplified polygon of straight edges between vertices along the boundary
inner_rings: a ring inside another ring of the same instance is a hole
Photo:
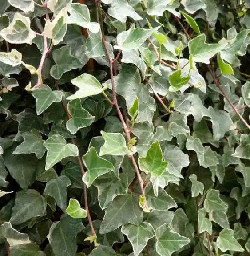
[[[138,256],[147,241],[155,236],[155,230],[150,223],[143,222],[139,226],[127,224],[122,226],[122,232],[132,244],[134,255]]]

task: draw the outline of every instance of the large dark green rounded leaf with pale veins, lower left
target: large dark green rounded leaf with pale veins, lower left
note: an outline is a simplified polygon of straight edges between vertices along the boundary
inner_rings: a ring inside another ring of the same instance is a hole
[[[33,189],[19,191],[16,193],[10,222],[18,225],[34,217],[43,216],[45,213],[46,201],[38,191]]]

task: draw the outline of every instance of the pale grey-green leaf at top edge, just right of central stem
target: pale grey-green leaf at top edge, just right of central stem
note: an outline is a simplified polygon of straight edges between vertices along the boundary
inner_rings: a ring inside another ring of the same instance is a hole
[[[107,9],[107,13],[122,23],[126,23],[127,16],[133,20],[142,20],[142,17],[135,12],[134,8],[126,0],[112,0],[111,7]]]

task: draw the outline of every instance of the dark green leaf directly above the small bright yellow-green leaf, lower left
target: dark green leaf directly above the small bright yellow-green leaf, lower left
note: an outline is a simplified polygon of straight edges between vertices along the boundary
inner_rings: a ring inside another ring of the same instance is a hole
[[[67,187],[70,185],[70,179],[64,175],[51,179],[46,183],[44,195],[53,197],[56,200],[56,204],[65,212],[67,207]]]

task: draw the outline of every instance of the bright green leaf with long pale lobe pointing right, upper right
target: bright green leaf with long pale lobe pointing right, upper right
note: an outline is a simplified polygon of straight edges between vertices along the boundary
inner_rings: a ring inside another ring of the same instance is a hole
[[[206,44],[206,35],[202,34],[188,42],[189,54],[194,62],[209,64],[209,60],[216,53],[226,47],[226,44]]]

